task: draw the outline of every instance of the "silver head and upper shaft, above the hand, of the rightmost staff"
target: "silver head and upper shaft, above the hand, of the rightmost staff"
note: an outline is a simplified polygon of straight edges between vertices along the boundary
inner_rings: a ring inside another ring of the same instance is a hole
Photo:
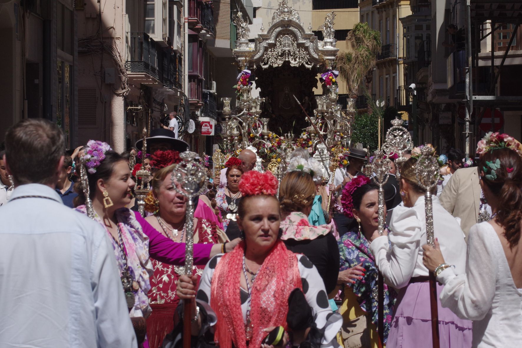
[[[431,191],[436,186],[439,179],[440,166],[434,154],[433,147],[424,146],[421,149],[421,156],[417,160],[414,171],[420,186],[426,191],[424,194],[424,205],[426,210],[426,239],[428,244],[435,246],[433,237],[433,204]]]

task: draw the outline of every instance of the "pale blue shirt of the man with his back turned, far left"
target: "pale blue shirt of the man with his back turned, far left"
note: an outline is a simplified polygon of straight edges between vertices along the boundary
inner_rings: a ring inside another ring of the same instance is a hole
[[[18,186],[0,221],[0,346],[137,347],[98,223],[41,184]]]

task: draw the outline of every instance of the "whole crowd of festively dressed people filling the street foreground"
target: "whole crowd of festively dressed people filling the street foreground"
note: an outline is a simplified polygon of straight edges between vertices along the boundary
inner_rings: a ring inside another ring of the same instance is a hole
[[[193,347],[432,347],[430,274],[441,347],[522,339],[522,145],[509,135],[488,133],[474,159],[432,149],[434,247],[420,148],[388,156],[382,234],[365,149],[350,148],[331,181],[303,149],[280,182],[250,149],[218,173],[201,156],[190,276],[187,198],[172,177],[188,144],[173,134],[152,130],[145,153],[140,140],[120,154],[95,140],[66,152],[41,119],[7,131],[1,346],[174,348],[189,329]],[[150,187],[145,216],[137,184]]]

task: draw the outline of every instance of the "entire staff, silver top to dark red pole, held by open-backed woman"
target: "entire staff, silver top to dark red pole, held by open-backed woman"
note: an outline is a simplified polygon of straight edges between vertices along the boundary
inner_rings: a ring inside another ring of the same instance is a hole
[[[435,247],[435,239],[433,236],[433,204],[431,196],[440,177],[440,166],[433,147],[424,144],[421,148],[421,156],[414,165],[414,171],[417,181],[422,189],[425,190],[426,239],[431,247]],[[430,305],[433,348],[438,348],[440,347],[440,341],[438,334],[437,285],[435,274],[433,272],[430,272]]]

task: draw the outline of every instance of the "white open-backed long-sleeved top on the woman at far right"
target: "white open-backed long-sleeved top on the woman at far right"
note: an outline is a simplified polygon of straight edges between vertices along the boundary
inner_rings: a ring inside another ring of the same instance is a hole
[[[444,258],[446,256],[444,255]],[[488,222],[471,227],[466,273],[447,268],[441,304],[473,320],[472,347],[515,347],[522,341],[522,289],[515,286],[499,236]]]

